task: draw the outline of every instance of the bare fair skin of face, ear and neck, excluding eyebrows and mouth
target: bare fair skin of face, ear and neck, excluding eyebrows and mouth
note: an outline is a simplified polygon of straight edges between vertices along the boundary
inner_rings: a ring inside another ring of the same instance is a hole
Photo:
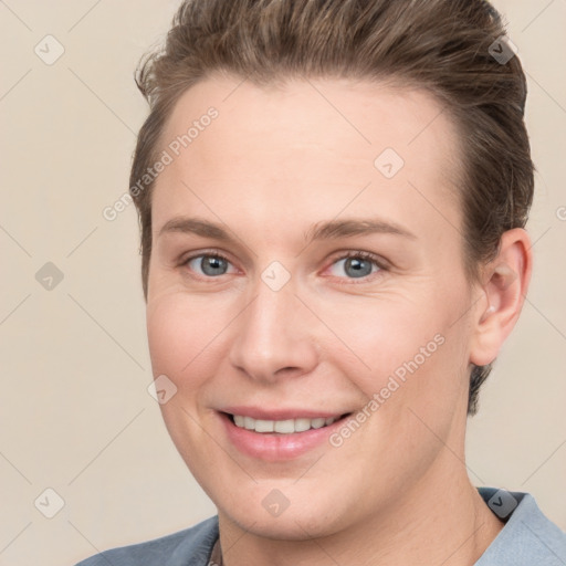
[[[218,118],[156,181],[147,326],[154,375],[178,388],[164,419],[218,507],[224,564],[474,564],[503,523],[464,465],[470,365],[492,361],[518,317],[526,232],[506,232],[481,280],[467,279],[459,135],[424,91],[214,75],[179,98],[163,148],[210,106]],[[388,147],[405,160],[390,179],[374,166]],[[177,217],[233,241],[164,232]],[[307,242],[314,224],[346,218],[413,238]],[[382,268],[357,279],[348,251]],[[184,263],[211,252],[226,273]],[[276,292],[261,277],[273,261],[291,276]],[[218,418],[228,405],[359,411],[436,335],[443,344],[339,448],[261,460]],[[290,502],[279,516],[262,505],[274,489]]]

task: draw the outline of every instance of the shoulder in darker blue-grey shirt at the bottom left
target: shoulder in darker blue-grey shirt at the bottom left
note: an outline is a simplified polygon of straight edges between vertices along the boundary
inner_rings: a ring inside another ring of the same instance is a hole
[[[218,515],[178,533],[102,552],[76,566],[207,566],[217,538]]]

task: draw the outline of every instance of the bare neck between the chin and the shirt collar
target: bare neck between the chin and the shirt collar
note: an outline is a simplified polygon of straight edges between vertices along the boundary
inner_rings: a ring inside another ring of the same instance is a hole
[[[504,524],[449,450],[396,503],[328,536],[279,541],[244,531],[219,510],[223,566],[471,566]],[[440,476],[439,476],[440,471]],[[431,479],[434,481],[432,482]],[[432,485],[431,485],[432,483]],[[298,521],[300,522],[300,521]]]

